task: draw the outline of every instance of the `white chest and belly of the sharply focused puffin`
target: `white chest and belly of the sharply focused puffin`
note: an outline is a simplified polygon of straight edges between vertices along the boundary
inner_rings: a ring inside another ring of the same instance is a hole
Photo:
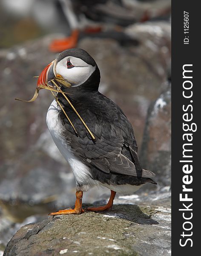
[[[75,176],[76,183],[83,184],[83,190],[88,190],[90,186],[94,185],[90,177],[89,168],[83,164],[74,154],[71,152],[71,147],[66,143],[63,138],[63,125],[58,118],[60,107],[57,106],[57,102],[54,100],[47,111],[46,123],[52,139],[54,140],[60,153],[69,162]],[[86,186],[86,184],[88,184]]]

